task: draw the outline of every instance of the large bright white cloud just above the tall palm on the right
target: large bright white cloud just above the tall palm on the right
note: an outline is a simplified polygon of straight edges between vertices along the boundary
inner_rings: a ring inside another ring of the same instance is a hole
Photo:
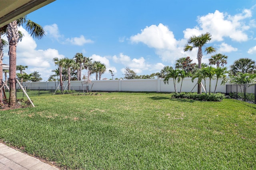
[[[247,41],[246,30],[250,28],[245,24],[245,19],[252,16],[251,10],[245,9],[242,13],[230,16],[216,10],[205,16],[198,17],[199,26],[188,28],[184,31],[184,38],[188,39],[192,35],[210,32],[212,41],[223,41],[224,37],[229,37],[234,41]]]

